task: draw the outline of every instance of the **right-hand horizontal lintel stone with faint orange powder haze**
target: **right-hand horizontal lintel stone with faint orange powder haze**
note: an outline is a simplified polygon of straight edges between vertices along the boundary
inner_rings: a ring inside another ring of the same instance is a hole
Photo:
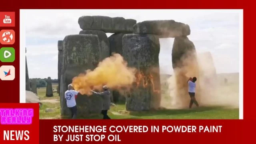
[[[146,20],[134,25],[134,34],[155,34],[159,38],[190,35],[190,27],[174,20]]]

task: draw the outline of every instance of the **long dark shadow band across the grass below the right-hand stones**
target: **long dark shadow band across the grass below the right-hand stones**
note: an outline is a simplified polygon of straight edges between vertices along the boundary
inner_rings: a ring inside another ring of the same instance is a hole
[[[157,115],[177,115],[177,114],[189,114],[195,112],[204,112],[209,110],[220,110],[221,106],[211,106],[211,107],[199,107],[192,109],[165,109],[165,110],[150,110],[141,112],[130,112],[131,116],[157,116]]]

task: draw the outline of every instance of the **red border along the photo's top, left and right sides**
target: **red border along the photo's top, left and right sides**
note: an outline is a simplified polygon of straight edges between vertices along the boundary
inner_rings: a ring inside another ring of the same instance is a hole
[[[253,70],[250,66],[250,62],[252,54],[255,52],[254,48],[251,48],[251,42],[254,41],[252,38],[252,31],[254,28],[252,27],[252,18],[254,15],[252,14],[252,2],[246,0],[215,0],[215,1],[204,1],[204,0],[182,0],[182,1],[167,1],[167,0],[158,0],[157,2],[150,2],[146,0],[140,0],[136,2],[123,2],[119,0],[110,1],[79,1],[73,0],[70,1],[52,1],[52,0],[44,0],[44,1],[33,1],[26,0],[24,1],[16,1],[15,4],[10,3],[8,0],[4,0],[1,2],[1,11],[15,11],[16,12],[16,26],[14,29],[16,31],[16,36],[19,36],[19,10],[20,9],[150,9],[150,8],[160,8],[160,9],[243,9],[244,10],[244,119],[255,119],[256,116],[254,114],[254,103],[256,101],[256,97],[252,94],[253,85],[250,81],[250,77],[254,76],[252,74]],[[7,29],[9,27],[6,27]],[[16,68],[16,78],[15,80],[0,83],[0,86],[6,90],[5,95],[11,95],[7,97],[3,97],[0,102],[19,102],[19,93],[18,90],[14,91],[12,88],[19,87],[19,74],[17,73],[19,70],[19,38],[16,38],[16,42],[14,44],[14,48],[16,50],[16,60],[14,63],[14,67]],[[3,47],[3,46],[2,46]],[[254,50],[254,51],[253,51]],[[25,50],[24,50],[25,51]],[[2,65],[2,64],[1,64]],[[25,82],[24,82],[25,84]]]

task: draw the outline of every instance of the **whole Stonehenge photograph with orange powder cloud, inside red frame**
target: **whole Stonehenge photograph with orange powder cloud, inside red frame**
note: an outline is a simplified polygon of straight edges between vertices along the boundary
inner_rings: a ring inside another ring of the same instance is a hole
[[[40,119],[239,119],[241,10],[20,15]]]

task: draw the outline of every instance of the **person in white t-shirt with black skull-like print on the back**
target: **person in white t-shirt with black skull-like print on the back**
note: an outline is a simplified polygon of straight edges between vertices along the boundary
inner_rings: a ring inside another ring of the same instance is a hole
[[[77,116],[76,97],[78,93],[79,92],[73,90],[72,84],[68,85],[68,90],[65,92],[67,106],[71,111],[72,119],[76,119],[76,116]]]

